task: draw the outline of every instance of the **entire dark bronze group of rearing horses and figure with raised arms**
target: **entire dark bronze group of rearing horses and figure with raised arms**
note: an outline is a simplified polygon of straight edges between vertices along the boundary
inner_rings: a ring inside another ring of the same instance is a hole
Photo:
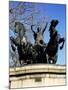
[[[15,22],[14,32],[17,34],[17,36],[16,38],[10,37],[10,40],[13,52],[16,52],[16,50],[18,52],[18,61],[20,65],[37,63],[56,64],[59,44],[61,44],[61,50],[65,42],[65,39],[61,38],[56,30],[58,23],[58,20],[52,20],[50,22],[48,30],[50,39],[48,43],[45,43],[43,40],[43,34],[48,23],[46,23],[43,30],[40,27],[37,27],[37,30],[33,30],[34,25],[31,25],[31,31],[35,41],[33,45],[31,42],[27,41],[24,24]]]

